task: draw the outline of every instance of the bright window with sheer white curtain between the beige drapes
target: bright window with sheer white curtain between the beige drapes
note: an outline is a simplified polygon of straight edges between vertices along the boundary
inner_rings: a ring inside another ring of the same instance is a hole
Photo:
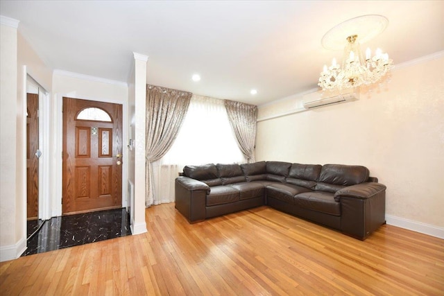
[[[246,162],[234,137],[224,101],[193,95],[176,141],[152,164],[153,204],[174,202],[174,182],[184,166]]]

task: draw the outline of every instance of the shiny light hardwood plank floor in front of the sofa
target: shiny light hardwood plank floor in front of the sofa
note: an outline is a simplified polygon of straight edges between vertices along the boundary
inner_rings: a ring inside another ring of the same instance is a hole
[[[444,240],[384,225],[366,241],[269,207],[0,263],[1,295],[444,295]]]

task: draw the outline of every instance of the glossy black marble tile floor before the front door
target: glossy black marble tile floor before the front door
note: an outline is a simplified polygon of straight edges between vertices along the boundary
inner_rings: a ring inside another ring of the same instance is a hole
[[[44,221],[40,230],[28,238],[28,248],[22,256],[130,234],[130,217],[125,208],[54,217]]]

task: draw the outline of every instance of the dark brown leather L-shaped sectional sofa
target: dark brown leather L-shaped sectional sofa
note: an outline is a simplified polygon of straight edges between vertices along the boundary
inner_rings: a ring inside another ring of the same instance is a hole
[[[385,223],[385,192],[365,166],[206,164],[176,178],[176,209],[195,223],[267,204],[364,240]]]

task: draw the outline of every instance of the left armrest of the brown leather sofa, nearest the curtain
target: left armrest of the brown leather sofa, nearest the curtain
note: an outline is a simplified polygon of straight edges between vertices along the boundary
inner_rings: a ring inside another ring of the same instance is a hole
[[[205,202],[210,186],[190,177],[177,177],[175,184],[176,209],[190,223],[205,220]]]

